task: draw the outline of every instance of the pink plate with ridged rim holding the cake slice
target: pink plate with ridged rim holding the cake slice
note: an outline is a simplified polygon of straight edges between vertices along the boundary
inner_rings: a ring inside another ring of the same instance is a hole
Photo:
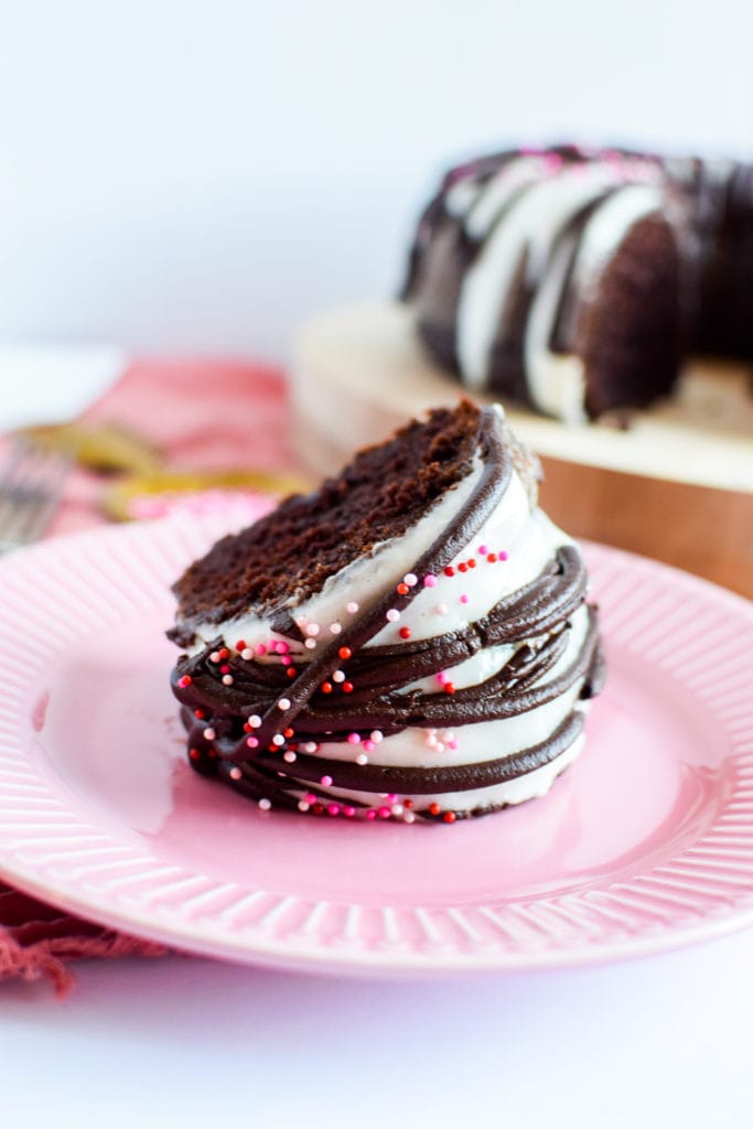
[[[753,921],[752,604],[590,546],[610,677],[546,798],[453,826],[310,819],[184,761],[168,587],[219,532],[178,516],[0,566],[6,879],[191,952],[335,972],[576,964]]]

